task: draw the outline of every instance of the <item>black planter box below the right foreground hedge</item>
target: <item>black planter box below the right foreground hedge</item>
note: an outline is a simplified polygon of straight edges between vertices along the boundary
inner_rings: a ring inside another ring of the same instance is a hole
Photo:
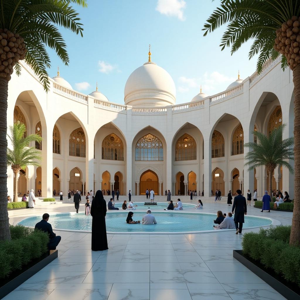
[[[300,300],[300,289],[297,284],[286,282],[282,276],[276,274],[273,270],[265,268],[259,261],[243,255],[242,250],[233,250],[233,257],[241,262],[250,271],[268,283],[278,293],[288,300]],[[286,283],[283,284],[283,282]]]

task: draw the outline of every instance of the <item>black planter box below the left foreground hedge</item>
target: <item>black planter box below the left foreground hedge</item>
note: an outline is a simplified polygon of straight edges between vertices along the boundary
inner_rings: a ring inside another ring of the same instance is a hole
[[[24,265],[21,270],[14,271],[10,274],[9,277],[1,280],[0,283],[0,299],[5,297],[35,273],[40,271],[46,265],[48,265],[52,260],[58,257],[58,251],[49,254],[45,253],[40,258],[32,260],[29,264]]]

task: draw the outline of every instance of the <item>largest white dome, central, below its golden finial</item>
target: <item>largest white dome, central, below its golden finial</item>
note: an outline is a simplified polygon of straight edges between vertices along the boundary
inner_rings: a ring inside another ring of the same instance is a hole
[[[170,74],[152,61],[134,70],[124,89],[124,102],[133,106],[167,106],[176,101],[175,83]]]

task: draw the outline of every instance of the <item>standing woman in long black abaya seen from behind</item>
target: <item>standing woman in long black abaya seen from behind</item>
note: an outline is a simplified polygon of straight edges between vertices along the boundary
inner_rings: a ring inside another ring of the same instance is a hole
[[[91,205],[92,220],[92,250],[107,250],[107,235],[105,226],[106,202],[103,193],[98,190]]]

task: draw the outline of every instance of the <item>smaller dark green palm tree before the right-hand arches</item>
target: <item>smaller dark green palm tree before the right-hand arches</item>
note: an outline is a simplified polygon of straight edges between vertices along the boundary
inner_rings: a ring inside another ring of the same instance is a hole
[[[294,149],[291,148],[294,144],[294,138],[289,137],[282,140],[283,129],[285,124],[274,128],[271,133],[266,136],[262,132],[253,131],[254,137],[257,138],[257,143],[245,143],[244,147],[252,149],[245,155],[245,166],[250,166],[249,170],[264,166],[269,173],[269,195],[272,195],[272,176],[276,167],[286,167],[291,173],[294,173],[292,166],[286,162],[286,159],[294,159]]]

